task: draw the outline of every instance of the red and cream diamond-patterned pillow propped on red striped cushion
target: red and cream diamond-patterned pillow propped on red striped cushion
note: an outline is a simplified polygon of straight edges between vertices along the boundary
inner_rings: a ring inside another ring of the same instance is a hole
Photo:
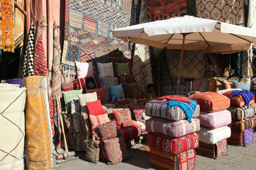
[[[132,125],[131,112],[129,108],[123,110],[113,110],[115,115],[117,127],[123,127],[124,129]]]

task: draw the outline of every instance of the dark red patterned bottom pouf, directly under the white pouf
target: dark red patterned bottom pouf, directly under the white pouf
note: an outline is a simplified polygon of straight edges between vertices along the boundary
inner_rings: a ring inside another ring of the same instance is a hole
[[[199,141],[199,147],[196,148],[196,154],[214,159],[223,155],[228,155],[227,139],[223,139],[215,144],[208,144]]]

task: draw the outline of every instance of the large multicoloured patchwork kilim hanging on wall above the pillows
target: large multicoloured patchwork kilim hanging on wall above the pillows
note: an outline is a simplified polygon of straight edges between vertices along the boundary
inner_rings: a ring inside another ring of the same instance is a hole
[[[129,63],[132,70],[132,44],[112,36],[113,29],[136,22],[137,5],[132,2],[66,0],[61,61],[65,78],[75,76],[75,61],[93,61],[94,66],[97,62]]]

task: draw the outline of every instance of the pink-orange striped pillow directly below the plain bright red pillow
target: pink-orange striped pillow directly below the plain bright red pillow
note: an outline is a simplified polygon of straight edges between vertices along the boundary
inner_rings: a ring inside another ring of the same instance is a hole
[[[98,125],[107,123],[109,122],[108,114],[103,114],[103,115],[89,115],[90,117],[90,122],[91,122],[91,127],[92,127],[92,136],[93,140],[95,140],[95,137],[99,135],[99,130],[97,128]]]

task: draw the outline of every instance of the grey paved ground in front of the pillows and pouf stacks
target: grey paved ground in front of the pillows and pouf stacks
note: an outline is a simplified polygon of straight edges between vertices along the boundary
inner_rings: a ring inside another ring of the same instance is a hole
[[[143,143],[145,144],[145,142]],[[136,144],[133,148],[142,146]],[[88,162],[84,159],[85,152],[76,152],[76,156],[81,156],[80,159],[59,164],[60,170],[159,170],[159,168],[149,165],[149,155],[134,152],[129,148],[128,152],[131,156],[130,159],[117,163],[115,165],[107,165],[100,162],[98,164]],[[256,134],[254,134],[254,143],[247,147],[228,146],[228,156],[221,156],[217,160],[196,155],[196,167],[195,170],[256,170]],[[58,156],[58,154],[55,154]],[[58,160],[59,161],[59,160]],[[57,162],[57,160],[54,160]],[[57,169],[56,169],[57,170]]]

